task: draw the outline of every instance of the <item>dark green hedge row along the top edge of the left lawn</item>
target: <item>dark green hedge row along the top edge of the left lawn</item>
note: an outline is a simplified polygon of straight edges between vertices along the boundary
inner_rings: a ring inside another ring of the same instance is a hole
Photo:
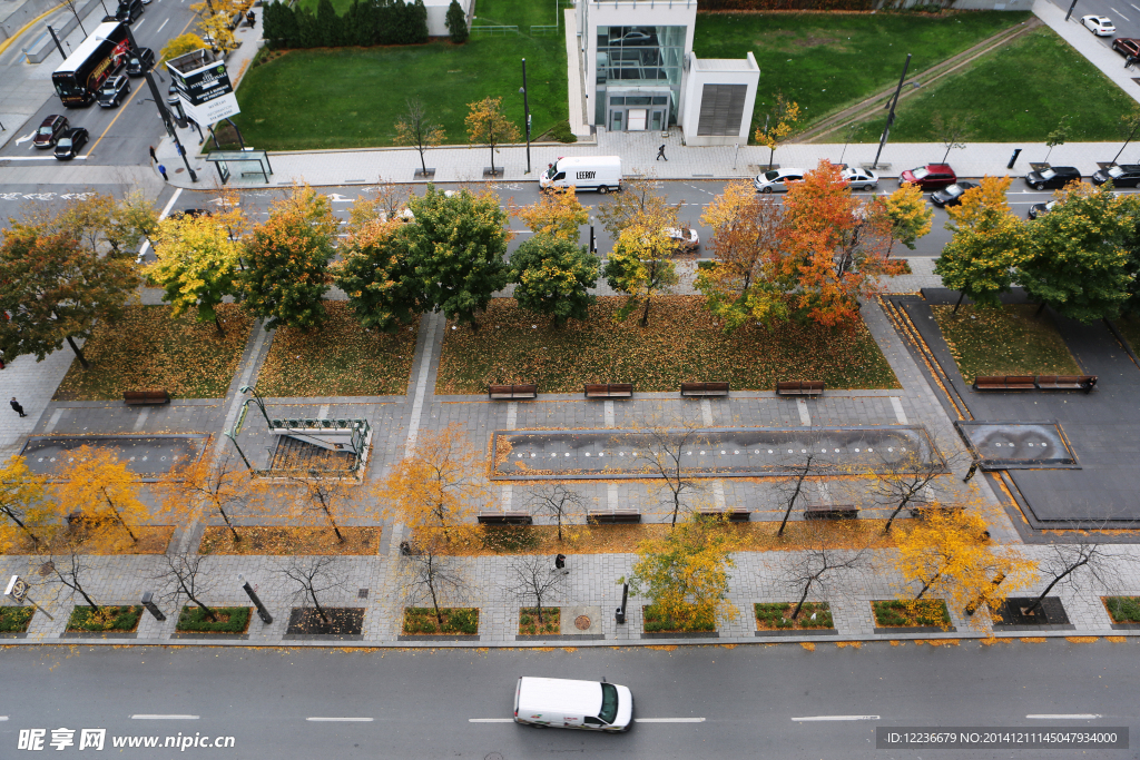
[[[427,9],[423,0],[356,0],[337,16],[329,0],[320,0],[316,14],[275,1],[266,6],[262,34],[275,50],[421,44],[427,41]]]

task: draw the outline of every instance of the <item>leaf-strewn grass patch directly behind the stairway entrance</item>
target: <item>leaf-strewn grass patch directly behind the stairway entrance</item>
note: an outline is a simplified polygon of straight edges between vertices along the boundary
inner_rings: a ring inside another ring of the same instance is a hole
[[[280,327],[261,371],[262,395],[404,395],[418,324],[394,335],[366,332],[345,301],[326,301],[328,321],[311,333]]]

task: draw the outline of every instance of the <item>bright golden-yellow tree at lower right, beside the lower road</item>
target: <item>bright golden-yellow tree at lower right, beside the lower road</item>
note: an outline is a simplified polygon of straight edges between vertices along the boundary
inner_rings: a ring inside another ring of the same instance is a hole
[[[918,587],[912,603],[929,594],[960,611],[979,597],[996,606],[1034,575],[1035,563],[1013,547],[992,544],[986,521],[967,509],[926,509],[922,520],[899,531],[896,544],[894,569],[911,591]],[[1004,580],[995,585],[995,577]]]

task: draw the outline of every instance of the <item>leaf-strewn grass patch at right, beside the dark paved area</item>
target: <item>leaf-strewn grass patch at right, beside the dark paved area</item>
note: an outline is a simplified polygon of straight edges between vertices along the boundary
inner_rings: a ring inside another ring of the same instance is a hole
[[[1029,303],[1001,309],[931,307],[958,368],[978,375],[1080,375],[1081,369],[1048,311]]]

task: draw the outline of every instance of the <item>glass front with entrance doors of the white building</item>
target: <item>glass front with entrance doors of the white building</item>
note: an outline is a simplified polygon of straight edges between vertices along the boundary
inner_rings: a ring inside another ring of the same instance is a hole
[[[595,56],[597,124],[658,130],[677,122],[684,26],[598,26]]]

